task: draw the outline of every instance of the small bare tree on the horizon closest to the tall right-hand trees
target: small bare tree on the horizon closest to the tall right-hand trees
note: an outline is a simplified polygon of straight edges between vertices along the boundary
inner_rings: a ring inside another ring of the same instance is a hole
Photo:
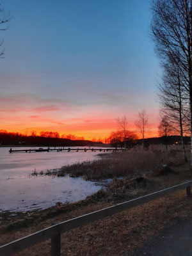
[[[165,142],[166,150],[167,150],[168,149],[167,148],[168,135],[170,135],[170,132],[172,132],[172,125],[170,125],[168,116],[161,117],[161,121],[160,121],[158,129],[159,129],[159,136],[164,137],[164,142]]]

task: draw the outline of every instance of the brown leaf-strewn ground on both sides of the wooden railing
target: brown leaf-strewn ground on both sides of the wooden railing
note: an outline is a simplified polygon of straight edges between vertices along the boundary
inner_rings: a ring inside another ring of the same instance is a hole
[[[168,188],[191,179],[188,164],[180,165],[176,171],[177,174],[170,173],[161,177],[154,177],[153,186],[136,189],[136,191],[132,191],[132,196],[136,198],[147,195],[152,191]],[[60,223],[113,204],[115,202],[102,199],[92,201],[92,198],[87,198],[79,203],[57,205],[44,211],[20,213],[17,216],[1,215],[0,244],[42,230],[53,223]],[[191,197],[186,196],[185,190],[178,191],[171,196],[164,196],[62,234],[61,255],[131,256],[140,250],[143,244],[152,241],[154,237],[161,234],[164,228],[177,223],[178,220],[185,221],[186,218],[191,218],[191,210]],[[15,255],[51,255],[51,240],[36,244],[36,246]],[[134,256],[138,255],[135,254]]]

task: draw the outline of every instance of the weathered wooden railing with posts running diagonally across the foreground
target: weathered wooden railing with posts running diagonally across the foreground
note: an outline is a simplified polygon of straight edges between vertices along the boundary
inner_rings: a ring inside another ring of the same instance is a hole
[[[86,225],[88,223],[91,223],[92,221],[106,218],[108,216],[116,214],[117,212],[130,209],[137,205],[145,204],[150,200],[154,200],[162,196],[168,195],[179,189],[186,189],[186,193],[189,196],[191,195],[191,184],[192,184],[192,180],[170,187],[170,188],[163,189],[161,191],[151,193],[149,195],[145,195],[136,199],[129,200],[122,204],[113,205],[111,207],[104,208],[99,211],[91,212],[71,220],[63,221],[59,224],[45,228],[29,236],[23,237],[11,243],[0,246],[0,255],[1,256],[13,255],[13,253],[20,252],[37,243],[43,242],[47,239],[51,239],[51,256],[60,256],[61,233],[67,232],[68,230],[72,230],[73,228]]]

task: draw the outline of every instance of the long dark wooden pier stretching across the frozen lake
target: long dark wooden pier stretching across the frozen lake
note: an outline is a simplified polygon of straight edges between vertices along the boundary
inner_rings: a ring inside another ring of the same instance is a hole
[[[10,153],[17,153],[17,152],[26,152],[26,153],[31,153],[31,152],[109,152],[109,151],[123,151],[124,148],[33,148],[33,149],[12,149],[10,148],[9,152]]]

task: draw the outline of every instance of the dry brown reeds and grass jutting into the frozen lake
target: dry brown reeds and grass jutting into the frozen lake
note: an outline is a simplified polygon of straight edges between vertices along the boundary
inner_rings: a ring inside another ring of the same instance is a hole
[[[175,169],[184,164],[182,152],[122,152],[102,155],[93,162],[63,166],[47,175],[83,177],[85,180],[109,179],[97,193],[88,196],[89,202],[122,202],[156,186],[156,177],[177,175]],[[43,173],[40,173],[43,174]],[[122,177],[122,179],[118,179]],[[173,178],[175,179],[175,178]],[[158,181],[159,182],[159,181]]]

